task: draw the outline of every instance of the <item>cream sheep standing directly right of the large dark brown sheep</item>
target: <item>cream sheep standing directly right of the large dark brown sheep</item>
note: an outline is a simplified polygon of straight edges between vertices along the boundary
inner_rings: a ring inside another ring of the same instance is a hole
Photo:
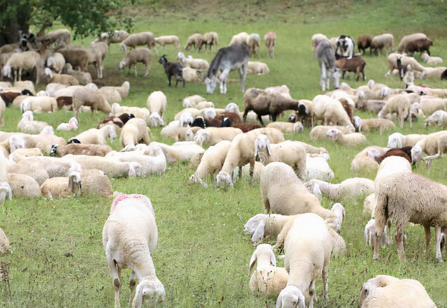
[[[328,125],[330,122],[333,124],[340,123],[342,126],[349,126],[355,131],[341,102],[326,95],[317,95],[312,102],[312,127],[318,119],[323,119],[323,125]]]

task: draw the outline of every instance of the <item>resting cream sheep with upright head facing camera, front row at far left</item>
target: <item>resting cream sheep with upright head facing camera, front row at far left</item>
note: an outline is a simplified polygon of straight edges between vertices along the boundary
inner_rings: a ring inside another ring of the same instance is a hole
[[[81,175],[78,171],[73,171],[68,177],[52,177],[46,179],[41,185],[43,196],[47,199],[67,198],[80,196],[81,194]]]

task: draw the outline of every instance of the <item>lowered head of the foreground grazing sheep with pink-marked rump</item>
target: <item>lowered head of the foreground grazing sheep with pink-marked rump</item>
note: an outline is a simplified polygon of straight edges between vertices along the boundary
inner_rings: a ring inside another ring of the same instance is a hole
[[[135,289],[132,308],[141,308],[143,302],[149,302],[148,307],[156,307],[165,298],[165,288],[157,277],[143,278]]]

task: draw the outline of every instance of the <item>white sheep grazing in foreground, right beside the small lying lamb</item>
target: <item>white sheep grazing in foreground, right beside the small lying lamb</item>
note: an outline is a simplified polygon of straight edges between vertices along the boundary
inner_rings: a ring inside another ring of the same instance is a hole
[[[309,297],[309,308],[313,308],[315,281],[320,274],[323,278],[323,298],[328,301],[332,242],[323,219],[313,213],[301,214],[283,232],[284,267],[288,272],[288,281],[286,288],[279,293],[277,307],[305,307],[305,298]]]

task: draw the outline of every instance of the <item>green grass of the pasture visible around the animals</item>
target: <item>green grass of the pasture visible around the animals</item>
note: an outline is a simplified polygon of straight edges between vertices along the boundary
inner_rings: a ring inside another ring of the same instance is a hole
[[[432,6],[427,5],[431,3]],[[328,37],[349,34],[372,36],[391,33],[395,45],[406,34],[423,31],[433,39],[432,54],[447,59],[445,14],[439,1],[335,1],[327,6],[325,1],[300,1],[297,3],[237,3],[227,1],[226,6],[213,1],[197,1],[189,7],[176,1],[141,3],[126,9],[135,17],[134,32],[152,31],[155,36],[175,34],[182,45],[196,31],[217,31],[219,47],[228,44],[231,36],[240,31],[265,34],[277,33],[276,57],[268,59],[265,46],[261,46],[261,59],[270,67],[268,75],[249,75],[248,87],[265,88],[288,85],[295,99],[312,99],[321,94],[318,64],[311,55],[310,38],[323,33]],[[434,14],[430,15],[431,12]],[[444,17],[442,17],[444,16]],[[444,19],[443,19],[444,18]],[[87,46],[93,38],[73,43]],[[184,50],[182,50],[184,51]],[[163,50],[161,50],[163,52]],[[161,53],[160,52],[160,53]],[[175,60],[177,50],[166,47],[169,60]],[[212,60],[210,54],[188,52],[193,57]],[[242,108],[243,94],[239,83],[228,85],[226,95],[205,94],[205,85],[186,84],[186,88],[168,87],[168,80],[153,55],[152,70],[143,78],[144,68],[138,64],[138,77],[118,71],[122,58],[119,47],[113,45],[105,59],[103,80],[98,85],[131,83],[131,91],[123,105],[145,107],[147,96],[156,90],[168,97],[167,122],[182,109],[182,99],[192,94],[205,96],[217,108],[235,102]],[[418,59],[418,57],[416,57]],[[257,60],[256,60],[257,61]],[[384,78],[387,71],[386,57],[365,56],[367,79],[401,87],[398,78]],[[237,73],[231,75],[237,78]],[[351,87],[366,82],[344,80]],[[420,82],[419,80],[415,83]],[[433,87],[446,87],[441,80],[421,81]],[[42,85],[38,89],[43,89]],[[360,117],[374,117],[358,112]],[[56,127],[67,122],[71,112],[40,114],[35,118]],[[99,115],[100,118],[103,115]],[[6,110],[3,131],[15,131],[20,110]],[[80,114],[80,130],[96,127],[98,117]],[[282,119],[285,120],[285,119]],[[424,129],[420,119],[410,130],[408,124],[401,133],[432,133],[439,128]],[[78,132],[79,132],[78,131]],[[173,143],[160,135],[161,129],[151,130],[151,139]],[[78,132],[58,133],[71,138]],[[385,147],[388,134],[366,133],[367,142],[358,147],[340,147],[330,140],[311,142],[309,129],[302,134],[288,134],[286,139],[302,140],[330,153],[329,164],[334,170],[333,182],[361,176],[374,179],[374,174],[358,175],[349,168],[351,160],[368,145]],[[119,141],[111,145],[121,149]],[[244,235],[244,223],[254,214],[263,212],[258,183],[247,179],[235,182],[234,189],[217,189],[215,184],[204,189],[199,184],[189,184],[194,172],[187,164],[168,166],[161,177],[113,179],[115,191],[142,193],[154,205],[159,228],[159,243],[152,255],[157,277],[166,288],[163,307],[274,307],[276,298],[256,296],[249,290],[248,265],[254,251],[250,239]],[[415,173],[447,184],[446,161],[432,163],[430,173],[420,164]],[[210,180],[208,180],[210,182]],[[9,264],[9,287],[0,282],[0,307],[111,307],[114,300],[112,277],[105,260],[101,242],[103,223],[108,217],[112,198],[82,196],[66,200],[13,199],[0,206],[0,226],[10,240],[13,254],[0,257]],[[330,208],[332,201],[323,198],[323,206]],[[434,241],[430,256],[426,258],[423,228],[409,226],[409,240],[405,246],[406,261],[397,258],[395,245],[381,249],[381,259],[372,261],[372,251],[365,247],[363,229],[369,220],[362,217],[362,200],[344,204],[346,221],[341,235],[348,246],[348,256],[333,259],[330,265],[329,302],[321,298],[321,280],[316,283],[319,297],[316,307],[358,307],[358,294],[364,281],[377,274],[390,274],[399,278],[418,279],[437,307],[447,307],[445,284],[439,283],[447,274],[444,263],[434,258]],[[268,240],[274,243],[275,239]],[[445,252],[443,252],[446,258]],[[279,266],[282,261],[279,260]],[[129,298],[129,270],[123,274],[122,305]]]

